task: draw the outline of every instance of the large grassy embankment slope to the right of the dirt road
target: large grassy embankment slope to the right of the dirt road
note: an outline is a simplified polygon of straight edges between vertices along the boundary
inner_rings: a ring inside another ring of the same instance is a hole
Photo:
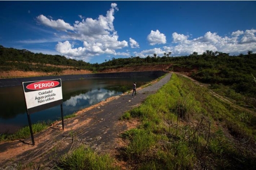
[[[133,117],[141,124],[121,135],[129,141],[121,154],[138,169],[256,166],[255,115],[230,106],[187,78],[173,74],[123,120]]]

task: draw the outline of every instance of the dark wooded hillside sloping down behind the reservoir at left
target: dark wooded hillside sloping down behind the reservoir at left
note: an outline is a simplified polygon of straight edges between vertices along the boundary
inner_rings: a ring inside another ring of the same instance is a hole
[[[92,70],[93,65],[82,60],[67,59],[60,55],[38,54],[0,45],[0,71],[61,72],[68,68]]]

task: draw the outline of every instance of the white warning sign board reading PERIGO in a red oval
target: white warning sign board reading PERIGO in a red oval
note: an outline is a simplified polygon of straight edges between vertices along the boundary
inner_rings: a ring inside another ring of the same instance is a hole
[[[28,114],[62,104],[61,79],[23,82]]]

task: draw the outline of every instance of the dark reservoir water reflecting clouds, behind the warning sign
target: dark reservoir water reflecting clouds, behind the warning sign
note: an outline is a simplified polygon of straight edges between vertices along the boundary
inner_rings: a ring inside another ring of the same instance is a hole
[[[157,77],[100,78],[62,81],[63,115],[95,105],[111,96],[131,90],[133,83],[140,87]],[[28,126],[26,103],[22,85],[0,88],[0,133],[13,133]],[[32,124],[61,118],[60,106],[30,115]]]

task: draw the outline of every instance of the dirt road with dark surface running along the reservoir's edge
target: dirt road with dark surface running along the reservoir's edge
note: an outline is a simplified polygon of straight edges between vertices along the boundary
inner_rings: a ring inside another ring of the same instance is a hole
[[[65,153],[71,152],[81,143],[87,144],[97,152],[116,156],[118,148],[123,146],[119,135],[125,130],[136,127],[138,122],[121,121],[125,111],[139,106],[148,95],[155,93],[170,80],[166,76],[143,89],[137,95],[131,93],[116,96],[109,102],[102,102],[91,109],[78,112],[74,118],[64,120],[31,138],[0,144],[0,169],[17,169],[20,165],[28,169],[51,169],[54,162]],[[125,165],[122,165],[125,166]]]

